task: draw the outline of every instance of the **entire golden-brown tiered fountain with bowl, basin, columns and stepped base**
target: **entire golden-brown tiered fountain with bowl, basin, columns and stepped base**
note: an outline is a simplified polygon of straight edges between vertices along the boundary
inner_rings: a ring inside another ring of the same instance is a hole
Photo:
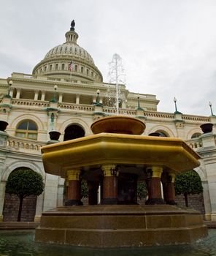
[[[207,236],[201,214],[174,202],[174,176],[198,167],[198,154],[177,138],[142,136],[144,128],[139,119],[109,116],[92,124],[93,135],[42,148],[45,171],[66,178],[68,189],[66,206],[42,214],[36,241],[119,247]],[[88,182],[88,206],[81,179]],[[144,206],[137,203],[137,181],[147,183]]]

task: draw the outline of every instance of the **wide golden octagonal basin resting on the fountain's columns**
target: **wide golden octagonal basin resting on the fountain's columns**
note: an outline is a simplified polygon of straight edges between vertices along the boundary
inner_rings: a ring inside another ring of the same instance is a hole
[[[181,173],[198,167],[198,154],[184,141],[138,135],[101,133],[42,147],[47,173],[66,177],[66,170],[81,168],[90,174],[101,165],[130,165],[143,172],[153,165]]]

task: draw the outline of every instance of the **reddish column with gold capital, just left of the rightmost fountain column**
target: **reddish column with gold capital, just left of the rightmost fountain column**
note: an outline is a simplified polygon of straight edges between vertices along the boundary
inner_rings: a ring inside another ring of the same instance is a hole
[[[148,199],[146,201],[147,205],[159,205],[164,204],[164,200],[161,195],[161,174],[163,168],[161,166],[153,166],[147,168],[147,189],[148,189]]]

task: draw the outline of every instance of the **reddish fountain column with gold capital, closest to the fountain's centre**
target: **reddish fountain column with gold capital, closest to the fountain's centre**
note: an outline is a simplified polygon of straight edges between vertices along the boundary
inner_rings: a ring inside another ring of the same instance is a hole
[[[101,204],[117,204],[117,176],[115,175],[115,165],[103,165],[104,173],[103,199]]]

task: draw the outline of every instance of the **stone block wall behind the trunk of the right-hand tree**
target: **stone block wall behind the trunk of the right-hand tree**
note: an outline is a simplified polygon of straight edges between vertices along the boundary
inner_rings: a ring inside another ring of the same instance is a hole
[[[176,195],[177,206],[185,207],[184,195]],[[200,211],[201,214],[205,214],[204,197],[202,194],[188,195],[188,207]]]

